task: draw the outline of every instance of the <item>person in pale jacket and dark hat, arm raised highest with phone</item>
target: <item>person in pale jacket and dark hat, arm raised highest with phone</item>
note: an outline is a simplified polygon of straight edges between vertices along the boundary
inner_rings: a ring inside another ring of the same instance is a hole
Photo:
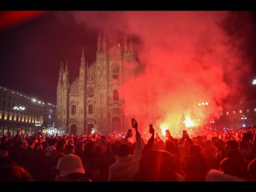
[[[139,162],[142,157],[142,140],[138,131],[138,122],[135,120],[136,148],[134,155],[130,155],[130,147],[122,143],[117,151],[116,162],[109,167],[108,181],[132,181],[134,174],[139,171]]]

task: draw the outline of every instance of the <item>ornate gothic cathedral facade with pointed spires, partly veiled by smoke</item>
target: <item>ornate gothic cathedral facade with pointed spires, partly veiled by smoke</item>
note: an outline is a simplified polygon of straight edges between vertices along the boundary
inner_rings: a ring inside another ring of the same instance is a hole
[[[57,85],[56,127],[68,134],[101,134],[126,132],[130,117],[124,114],[119,87],[129,78],[136,78],[143,69],[133,49],[132,38],[124,37],[121,45],[107,50],[105,34],[100,34],[96,61],[86,65],[82,50],[79,77],[69,82],[68,66],[63,63]]]

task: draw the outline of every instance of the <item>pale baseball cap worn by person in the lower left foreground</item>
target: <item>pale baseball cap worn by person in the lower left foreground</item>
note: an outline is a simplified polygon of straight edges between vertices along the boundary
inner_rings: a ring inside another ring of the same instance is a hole
[[[72,173],[85,173],[81,158],[74,154],[68,154],[61,157],[56,169],[59,170],[61,176],[66,176]]]

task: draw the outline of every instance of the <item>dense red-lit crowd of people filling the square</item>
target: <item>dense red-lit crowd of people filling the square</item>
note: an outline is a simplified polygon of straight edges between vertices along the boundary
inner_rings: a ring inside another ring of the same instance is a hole
[[[143,138],[1,135],[0,181],[256,181],[256,128]],[[247,142],[243,137],[249,135]]]

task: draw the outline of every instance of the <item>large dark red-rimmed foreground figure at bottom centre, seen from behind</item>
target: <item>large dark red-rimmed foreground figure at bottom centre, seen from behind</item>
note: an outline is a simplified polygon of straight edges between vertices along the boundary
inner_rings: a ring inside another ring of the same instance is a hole
[[[140,160],[133,181],[185,181],[176,170],[175,158],[164,150],[151,150]]]

